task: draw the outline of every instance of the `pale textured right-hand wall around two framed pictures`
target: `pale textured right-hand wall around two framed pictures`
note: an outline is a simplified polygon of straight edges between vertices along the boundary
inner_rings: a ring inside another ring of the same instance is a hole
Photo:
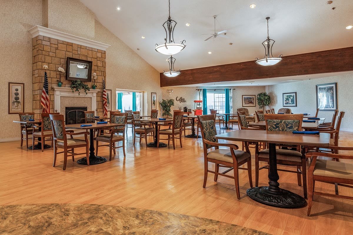
[[[266,91],[271,95],[273,107],[277,112],[282,108],[282,93],[297,92],[297,107],[291,107],[293,113],[316,113],[316,85],[337,82],[337,106],[340,111],[345,111],[341,128],[353,131],[351,117],[353,116],[352,88],[353,73],[327,78],[311,79],[306,81],[291,82],[267,86]],[[324,117],[330,122],[333,111],[319,111],[319,117]]]

